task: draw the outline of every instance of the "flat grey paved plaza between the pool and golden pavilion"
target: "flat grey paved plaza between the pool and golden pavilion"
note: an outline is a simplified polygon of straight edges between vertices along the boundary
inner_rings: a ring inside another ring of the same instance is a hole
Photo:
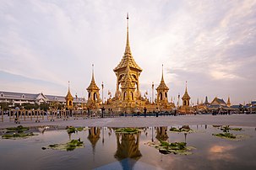
[[[0,128],[16,126],[6,117],[4,122],[0,120]],[[99,118],[87,120],[35,120],[21,121],[23,126],[59,125],[59,126],[107,126],[107,127],[144,127],[144,126],[170,126],[170,125],[239,125],[256,128],[256,114],[231,114],[231,115],[180,115],[161,117],[117,117]]]

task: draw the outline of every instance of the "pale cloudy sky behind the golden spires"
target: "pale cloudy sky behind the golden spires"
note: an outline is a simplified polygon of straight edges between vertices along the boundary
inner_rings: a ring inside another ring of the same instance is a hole
[[[159,85],[163,64],[169,101],[186,81],[193,104],[256,100],[254,0],[0,0],[0,90],[64,96],[69,81],[87,98],[94,64],[104,98],[113,96],[127,13],[143,96]]]

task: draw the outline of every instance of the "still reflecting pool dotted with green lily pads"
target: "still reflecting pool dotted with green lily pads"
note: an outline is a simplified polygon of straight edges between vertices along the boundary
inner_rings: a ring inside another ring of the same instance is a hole
[[[0,135],[17,133],[14,131],[1,130]],[[180,125],[66,130],[48,126],[30,127],[28,133],[31,132],[34,135],[1,137],[1,169],[256,169],[253,127]],[[237,138],[217,135],[226,133]],[[70,144],[72,140],[80,141],[79,147]],[[191,154],[179,154],[177,146],[171,147],[175,142],[193,147]],[[60,150],[54,148],[58,144],[63,146]],[[166,151],[165,145],[172,149]]]

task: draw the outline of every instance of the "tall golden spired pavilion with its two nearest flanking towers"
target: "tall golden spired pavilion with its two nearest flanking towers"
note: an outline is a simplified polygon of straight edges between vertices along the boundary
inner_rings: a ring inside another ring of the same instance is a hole
[[[155,101],[152,102],[146,97],[142,97],[139,89],[139,76],[143,71],[141,67],[134,61],[132,51],[129,43],[128,32],[128,16],[127,16],[127,40],[122,60],[113,69],[117,77],[116,91],[113,97],[102,102],[100,98],[100,88],[95,83],[94,67],[92,69],[91,82],[88,88],[86,109],[93,112],[99,111],[104,108],[106,112],[110,113],[143,113],[146,109],[147,112],[152,111],[171,111],[175,105],[168,102],[167,93],[169,88],[164,81],[164,72],[162,66],[161,82],[155,89]],[[102,84],[103,86],[103,84]],[[152,90],[154,86],[152,85]],[[70,93],[70,92],[69,92]],[[152,96],[153,97],[153,96]]]

